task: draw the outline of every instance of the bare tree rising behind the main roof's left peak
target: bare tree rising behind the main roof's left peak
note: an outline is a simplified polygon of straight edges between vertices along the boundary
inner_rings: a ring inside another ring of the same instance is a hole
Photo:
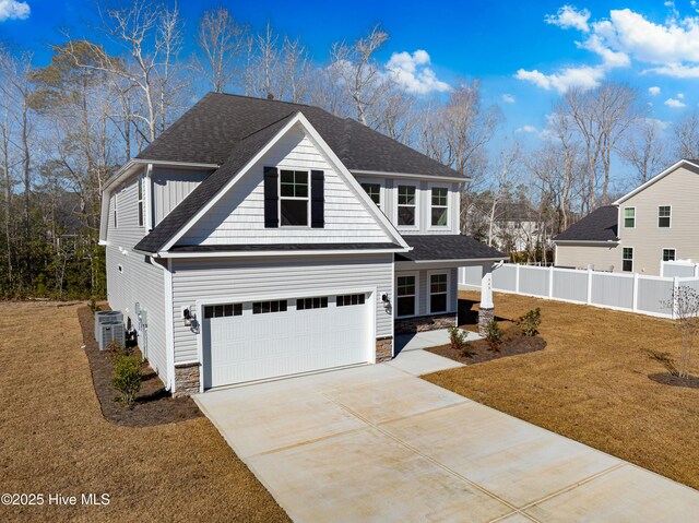
[[[196,64],[214,92],[223,93],[233,82],[236,61],[245,51],[247,39],[247,27],[226,8],[210,9],[199,20]]]

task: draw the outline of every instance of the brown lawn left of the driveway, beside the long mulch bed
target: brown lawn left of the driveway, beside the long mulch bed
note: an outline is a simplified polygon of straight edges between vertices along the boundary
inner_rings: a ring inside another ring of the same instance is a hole
[[[107,492],[111,501],[0,506],[0,521],[288,521],[206,418],[106,421],[75,312],[0,302],[0,492]]]

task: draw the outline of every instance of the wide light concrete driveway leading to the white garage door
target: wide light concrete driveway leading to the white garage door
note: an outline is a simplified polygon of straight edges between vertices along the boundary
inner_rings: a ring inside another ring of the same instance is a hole
[[[689,522],[699,492],[389,364],[196,396],[296,522]]]

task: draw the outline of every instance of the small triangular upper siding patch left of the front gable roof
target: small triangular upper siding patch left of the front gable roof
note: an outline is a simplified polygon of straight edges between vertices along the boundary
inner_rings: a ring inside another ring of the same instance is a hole
[[[211,170],[185,170],[155,167],[153,169],[153,226],[159,224],[185,200]]]

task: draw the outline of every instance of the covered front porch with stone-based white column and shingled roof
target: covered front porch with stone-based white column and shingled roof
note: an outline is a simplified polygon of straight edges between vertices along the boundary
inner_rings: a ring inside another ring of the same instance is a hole
[[[446,330],[458,324],[459,268],[482,268],[478,326],[495,318],[493,268],[507,259],[464,235],[404,236],[413,248],[395,254],[395,336]]]

